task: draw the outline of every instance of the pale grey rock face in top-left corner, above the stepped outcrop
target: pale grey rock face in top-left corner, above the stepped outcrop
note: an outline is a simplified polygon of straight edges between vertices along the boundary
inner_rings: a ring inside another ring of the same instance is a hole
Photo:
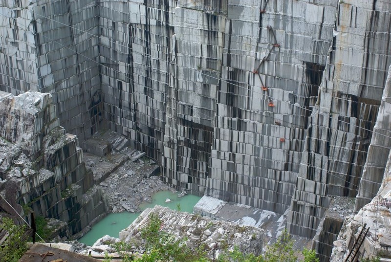
[[[0,88],[13,94],[38,90],[37,46],[30,1],[0,3]]]

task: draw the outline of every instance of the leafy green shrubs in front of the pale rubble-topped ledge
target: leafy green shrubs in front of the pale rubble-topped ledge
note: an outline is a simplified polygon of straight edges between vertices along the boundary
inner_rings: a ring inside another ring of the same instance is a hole
[[[160,218],[151,214],[149,216],[148,225],[141,230],[141,237],[145,241],[147,252],[141,258],[129,256],[131,244],[123,241],[115,243],[114,248],[120,254],[123,261],[135,262],[209,262],[211,259],[207,257],[206,251],[209,247],[206,243],[199,245],[196,250],[191,250],[187,245],[187,239],[176,239],[174,235],[161,230],[162,221]],[[239,227],[239,226],[238,226]],[[240,227],[240,230],[245,230],[245,227]],[[289,233],[284,230],[276,243],[266,247],[266,253],[262,256],[242,253],[237,246],[233,250],[228,251],[229,246],[227,239],[220,241],[220,253],[217,262],[296,262],[297,251],[293,249],[294,240]],[[314,250],[302,251],[304,255],[303,262],[319,262]]]

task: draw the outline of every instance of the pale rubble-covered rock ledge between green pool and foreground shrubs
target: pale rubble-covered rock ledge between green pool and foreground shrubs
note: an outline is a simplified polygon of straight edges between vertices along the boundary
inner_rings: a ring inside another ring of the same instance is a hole
[[[138,242],[135,251],[145,250],[140,241],[140,230],[149,221],[149,215],[156,214],[162,221],[161,229],[174,234],[177,238],[187,236],[187,245],[196,248],[201,243],[209,247],[207,253],[213,257],[213,248],[221,252],[224,247],[233,249],[238,246],[242,252],[261,254],[263,245],[263,230],[252,226],[242,226],[232,222],[212,220],[187,212],[177,212],[166,207],[155,206],[146,209],[130,226],[119,233],[120,240]],[[229,241],[227,241],[229,240]]]

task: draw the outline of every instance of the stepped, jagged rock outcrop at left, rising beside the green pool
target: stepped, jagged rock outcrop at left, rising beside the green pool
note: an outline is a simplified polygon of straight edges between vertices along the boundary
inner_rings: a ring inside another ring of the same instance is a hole
[[[67,222],[61,237],[108,211],[102,192],[91,188],[76,136],[59,125],[50,94],[0,92],[0,114],[0,191],[15,208]],[[0,205],[9,208],[3,200]]]

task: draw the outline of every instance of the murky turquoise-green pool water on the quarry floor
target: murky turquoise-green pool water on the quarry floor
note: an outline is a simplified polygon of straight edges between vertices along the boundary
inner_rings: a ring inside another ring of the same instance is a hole
[[[141,210],[145,210],[148,207],[160,205],[177,210],[177,204],[179,204],[182,212],[193,213],[193,207],[198,200],[201,199],[200,196],[187,195],[178,197],[177,195],[178,193],[173,194],[171,191],[158,191],[152,196],[152,203],[142,203],[139,208]],[[170,198],[171,202],[166,203],[165,201],[167,198]],[[96,240],[102,238],[104,235],[118,238],[119,232],[122,229],[127,228],[140,214],[140,212],[111,213],[106,218],[103,218],[92,226],[91,230],[78,241],[87,245],[92,245]]]

